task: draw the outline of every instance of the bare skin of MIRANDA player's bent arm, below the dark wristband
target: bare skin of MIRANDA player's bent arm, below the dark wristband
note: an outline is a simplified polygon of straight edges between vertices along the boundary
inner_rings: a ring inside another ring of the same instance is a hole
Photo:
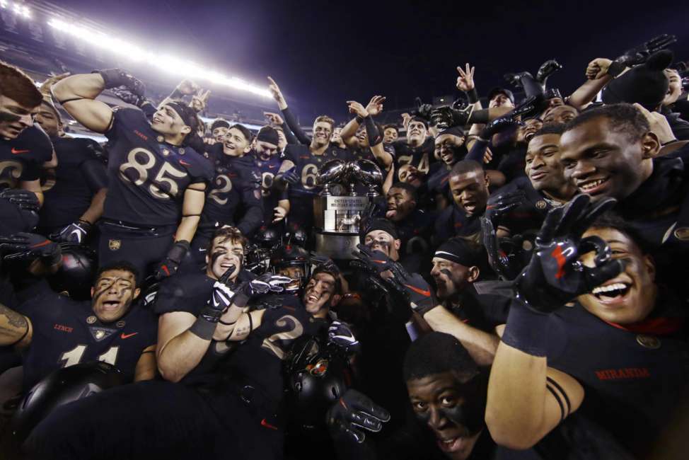
[[[528,449],[560,423],[560,404],[546,387],[546,377],[567,394],[570,413],[581,406],[584,389],[572,376],[550,369],[545,357],[528,355],[503,342],[498,345],[486,407],[488,430],[497,444]],[[565,404],[560,390],[548,385]]]

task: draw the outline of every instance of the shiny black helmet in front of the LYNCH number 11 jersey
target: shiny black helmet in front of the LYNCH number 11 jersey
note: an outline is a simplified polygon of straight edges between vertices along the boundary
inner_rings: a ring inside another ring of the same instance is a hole
[[[22,442],[59,406],[124,383],[124,374],[107,362],[86,362],[57,369],[26,393],[10,422],[11,432]]]

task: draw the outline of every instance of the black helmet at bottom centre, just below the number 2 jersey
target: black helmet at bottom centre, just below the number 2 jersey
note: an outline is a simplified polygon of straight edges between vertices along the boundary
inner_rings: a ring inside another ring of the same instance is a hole
[[[325,414],[352,384],[347,358],[318,338],[302,336],[286,360],[290,427],[325,429]]]

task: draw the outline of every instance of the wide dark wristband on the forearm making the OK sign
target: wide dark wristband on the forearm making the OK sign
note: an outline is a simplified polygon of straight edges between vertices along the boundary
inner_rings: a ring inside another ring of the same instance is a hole
[[[548,350],[548,314],[529,309],[519,298],[509,307],[502,341],[528,355],[545,357]]]

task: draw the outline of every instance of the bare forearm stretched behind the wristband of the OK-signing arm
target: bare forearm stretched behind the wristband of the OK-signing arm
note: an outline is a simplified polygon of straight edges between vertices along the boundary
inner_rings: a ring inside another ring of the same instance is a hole
[[[495,357],[495,350],[500,339],[497,335],[485,333],[463,323],[451,314],[444,306],[436,306],[427,311],[424,320],[433,330],[453,335],[469,352],[476,364],[490,366]]]

